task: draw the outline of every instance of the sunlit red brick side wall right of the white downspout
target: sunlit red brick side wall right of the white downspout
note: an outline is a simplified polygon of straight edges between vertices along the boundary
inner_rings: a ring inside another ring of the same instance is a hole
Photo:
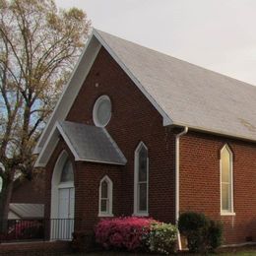
[[[221,217],[220,151],[233,153],[234,217]],[[224,223],[224,243],[256,241],[256,145],[189,132],[180,142],[180,211],[204,212]]]

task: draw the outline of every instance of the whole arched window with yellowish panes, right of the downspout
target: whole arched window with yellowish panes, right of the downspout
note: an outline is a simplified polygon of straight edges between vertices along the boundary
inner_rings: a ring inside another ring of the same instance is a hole
[[[221,151],[221,213],[233,213],[233,157],[227,145]]]

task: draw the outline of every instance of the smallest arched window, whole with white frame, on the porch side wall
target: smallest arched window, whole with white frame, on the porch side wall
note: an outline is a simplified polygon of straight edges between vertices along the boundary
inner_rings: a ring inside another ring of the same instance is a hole
[[[111,217],[112,215],[113,183],[108,176],[104,176],[99,183],[98,216]]]

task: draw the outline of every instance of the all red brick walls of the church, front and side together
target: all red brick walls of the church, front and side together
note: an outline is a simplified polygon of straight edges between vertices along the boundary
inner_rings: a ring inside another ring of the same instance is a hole
[[[113,181],[113,214],[133,214],[134,151],[140,141],[149,149],[149,212],[164,222],[174,221],[174,136],[162,127],[162,118],[149,100],[102,48],[77,96],[67,120],[94,125],[96,98],[107,95],[112,117],[106,129],[128,160],[125,166],[75,162],[75,216],[92,230],[98,218],[98,185],[107,174]],[[233,151],[234,217],[221,217],[220,150],[228,143]],[[50,213],[52,170],[63,149],[57,146],[47,164],[46,217]],[[224,243],[256,241],[256,150],[255,145],[222,137],[189,132],[180,142],[180,210],[204,212],[224,222]]]

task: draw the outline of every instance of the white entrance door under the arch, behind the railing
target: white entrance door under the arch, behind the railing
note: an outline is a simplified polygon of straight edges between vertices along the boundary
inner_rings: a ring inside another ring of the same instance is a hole
[[[74,231],[75,189],[59,188],[58,239],[72,239]]]

